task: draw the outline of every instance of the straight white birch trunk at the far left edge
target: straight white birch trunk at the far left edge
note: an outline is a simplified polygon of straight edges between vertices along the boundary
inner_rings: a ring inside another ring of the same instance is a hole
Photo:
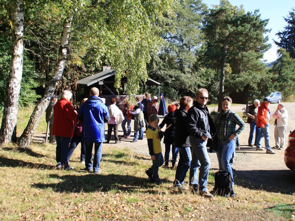
[[[11,0],[12,30],[12,56],[6,100],[0,130],[0,143],[9,143],[17,124],[17,110],[19,101],[20,84],[22,81],[22,66],[24,58],[24,14],[22,12],[22,0]]]

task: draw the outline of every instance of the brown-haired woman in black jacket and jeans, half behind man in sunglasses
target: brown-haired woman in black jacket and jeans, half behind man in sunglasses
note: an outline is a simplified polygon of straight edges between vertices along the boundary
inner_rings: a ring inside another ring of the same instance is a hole
[[[175,110],[175,146],[179,150],[179,161],[176,169],[173,186],[179,189],[186,189],[183,185],[186,173],[191,166],[191,144],[189,132],[186,130],[187,110],[193,105],[193,99],[189,96],[180,98],[180,108]]]

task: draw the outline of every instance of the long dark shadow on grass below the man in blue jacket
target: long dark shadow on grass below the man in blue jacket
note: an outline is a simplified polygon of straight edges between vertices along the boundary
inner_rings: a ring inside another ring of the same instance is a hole
[[[52,188],[55,192],[142,192],[157,194],[155,184],[148,179],[118,174],[87,174],[85,176],[51,174],[50,178],[61,180],[59,183],[37,183],[31,187]],[[165,182],[165,180],[163,180]]]

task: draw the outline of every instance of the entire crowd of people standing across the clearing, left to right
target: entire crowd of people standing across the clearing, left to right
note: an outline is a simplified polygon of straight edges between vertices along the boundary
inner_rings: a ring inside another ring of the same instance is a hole
[[[214,146],[217,150],[217,159],[220,170],[229,171],[231,174],[232,186],[234,177],[232,173],[232,160],[235,153],[238,135],[244,130],[245,123],[231,110],[232,99],[222,99],[222,110],[213,119],[206,106],[209,99],[209,92],[200,88],[195,100],[184,96],[177,104],[168,105],[168,114],[159,124],[158,100],[145,95],[140,101],[136,98],[136,105],[133,106],[126,101],[122,110],[116,106],[116,98],[111,99],[111,105],[107,107],[99,97],[99,90],[91,88],[90,97],[82,100],[79,109],[74,110],[70,103],[72,93],[63,91],[60,100],[53,106],[53,128],[52,133],[56,138],[56,161],[57,168],[66,170],[73,169],[68,162],[73,150],[81,142],[81,162],[85,163],[85,169],[93,173],[99,173],[102,144],[105,141],[104,128],[108,124],[107,140],[111,140],[114,130],[115,143],[120,143],[118,128],[122,124],[124,138],[130,138],[131,119],[134,119],[134,138],[131,142],[143,139],[143,128],[146,128],[148,150],[153,161],[152,166],[146,170],[148,177],[155,183],[161,183],[158,170],[164,164],[168,167],[169,154],[172,149],[172,167],[176,165],[179,154],[179,161],[176,168],[173,186],[179,189],[187,189],[184,182],[189,171],[189,187],[204,197],[213,197],[208,191],[207,182],[210,169],[210,158],[207,152],[208,146]],[[255,100],[246,110],[250,118],[250,136],[248,145],[253,146],[254,131],[256,131],[254,145],[256,150],[261,150],[261,140],[265,137],[266,153],[273,154],[269,145],[269,98],[264,98],[260,105]],[[50,104],[51,105],[51,104]],[[156,110],[154,110],[156,109]],[[151,112],[154,111],[154,112]],[[284,134],[287,125],[287,111],[283,104],[279,104],[273,118],[275,118],[275,139],[276,148],[284,146]],[[46,117],[46,119],[49,119]],[[75,123],[76,122],[76,123]],[[127,123],[127,128],[125,127]],[[161,131],[166,125],[165,131]],[[164,137],[165,159],[162,155],[161,138]],[[94,145],[94,159],[92,163],[92,149]],[[172,147],[172,148],[171,148]],[[231,197],[236,196],[234,190]]]

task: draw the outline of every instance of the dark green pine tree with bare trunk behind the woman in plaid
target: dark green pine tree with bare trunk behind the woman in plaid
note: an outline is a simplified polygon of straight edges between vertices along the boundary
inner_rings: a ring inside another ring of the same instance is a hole
[[[219,109],[225,93],[247,87],[256,90],[260,75],[266,72],[260,59],[270,47],[263,37],[268,20],[260,19],[258,12],[245,13],[242,6],[221,0],[206,17],[203,64],[219,72]]]

